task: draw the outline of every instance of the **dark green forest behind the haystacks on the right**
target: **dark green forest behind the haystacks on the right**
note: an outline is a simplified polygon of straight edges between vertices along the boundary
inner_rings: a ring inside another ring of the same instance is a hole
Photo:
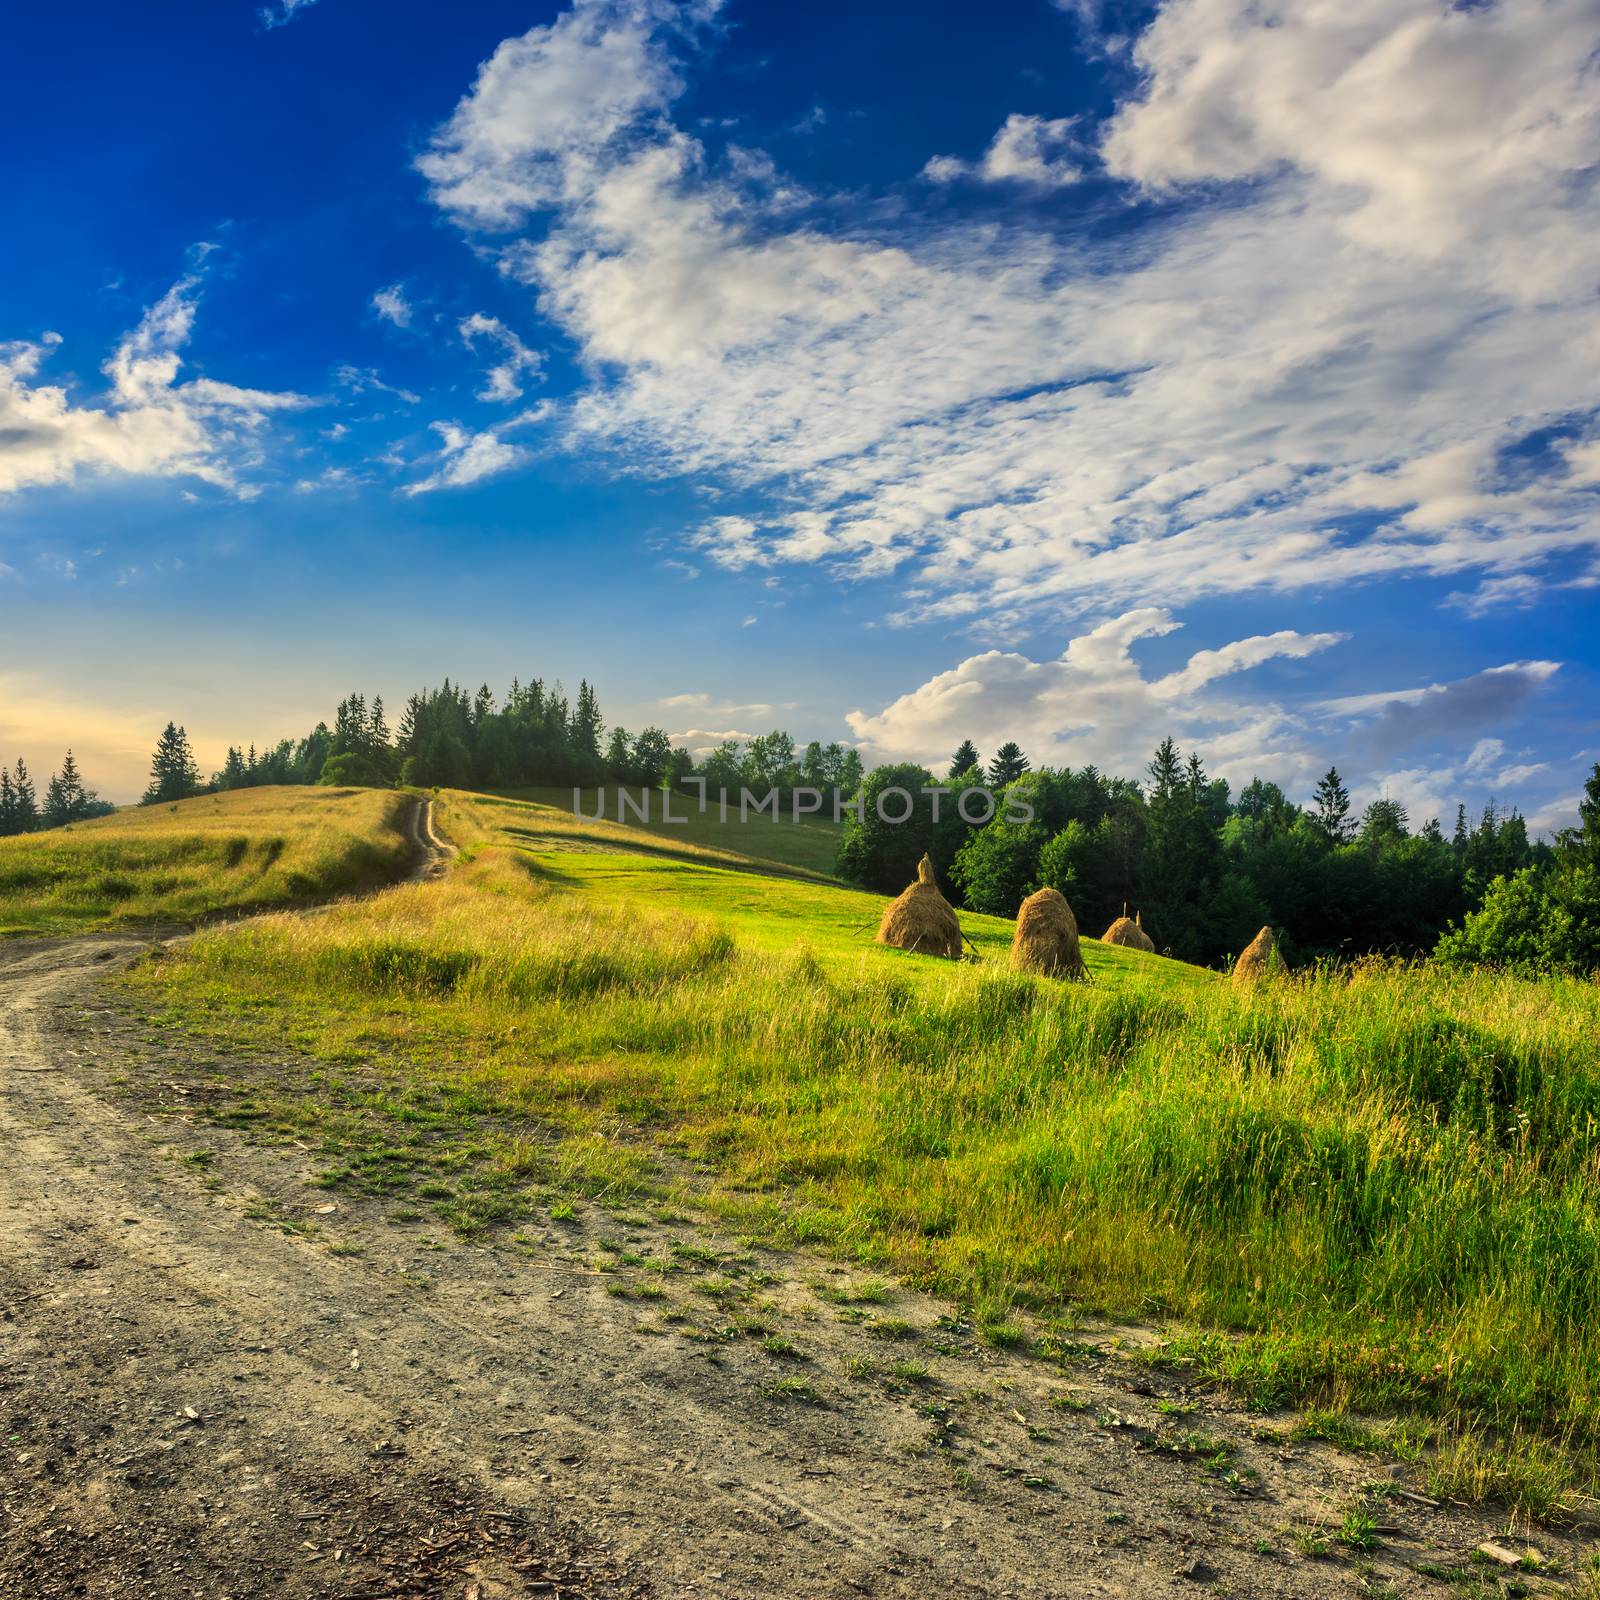
[[[1035,771],[1014,744],[984,766],[966,741],[942,781],[949,792],[923,792],[934,786],[918,765],[869,773],[861,816],[840,840],[840,874],[896,893],[926,848],[952,898],[971,910],[1013,917],[1027,894],[1050,886],[1067,896],[1085,931],[1139,910],[1160,950],[1198,965],[1237,955],[1266,923],[1294,963],[1437,949],[1509,965],[1515,925],[1523,970],[1600,966],[1600,859],[1573,866],[1582,850],[1600,851],[1600,766],[1584,829],[1555,846],[1531,842],[1522,814],[1494,803],[1470,819],[1459,806],[1450,837],[1438,819],[1413,829],[1392,798],[1355,814],[1333,768],[1306,806],[1259,778],[1235,797],[1171,739],[1157,747],[1144,782],[1094,766]],[[954,803],[976,787],[1000,790],[981,826]],[[907,822],[878,816],[888,789],[914,797]],[[1008,798],[1026,802],[1032,819],[1008,819]]]

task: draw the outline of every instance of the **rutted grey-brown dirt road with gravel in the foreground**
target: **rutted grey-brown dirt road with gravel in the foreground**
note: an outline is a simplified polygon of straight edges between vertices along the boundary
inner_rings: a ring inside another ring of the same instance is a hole
[[[101,981],[147,947],[0,947],[6,1597],[1443,1595],[1496,1533],[1390,1494],[1342,1547],[1384,1469],[1109,1331],[1059,1370],[702,1219],[480,1248],[334,1195],[205,1122],[218,1074],[312,1069],[152,1035]]]

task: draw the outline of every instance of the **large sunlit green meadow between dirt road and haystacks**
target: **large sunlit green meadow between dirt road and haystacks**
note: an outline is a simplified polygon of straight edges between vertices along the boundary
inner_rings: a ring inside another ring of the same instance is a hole
[[[1411,1418],[1402,1445],[1426,1422],[1451,1493],[1594,1478],[1595,986],[1371,965],[1237,992],[1094,941],[1093,982],[1059,984],[1008,973],[992,918],[963,915],[982,958],[954,965],[875,947],[878,898],[738,853],[482,797],[440,819],[443,882],[139,979],[330,1062],[240,1115],[315,1128],[331,1181],[488,1226],[539,1203],[522,1118],[603,1134],[573,1149],[616,1181],[632,1130],[741,1226],[888,1264],[997,1339],[1018,1306],[1165,1320],[1261,1405]]]

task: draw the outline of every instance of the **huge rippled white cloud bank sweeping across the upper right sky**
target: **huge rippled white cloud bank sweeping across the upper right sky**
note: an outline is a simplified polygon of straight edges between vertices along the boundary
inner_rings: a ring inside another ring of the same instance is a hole
[[[1120,230],[830,222],[674,126],[712,10],[578,0],[421,160],[589,362],[570,438],[765,493],[707,557],[1005,624],[1600,547],[1594,0],[1168,0],[1104,133]],[[982,160],[1040,181],[1067,133]]]

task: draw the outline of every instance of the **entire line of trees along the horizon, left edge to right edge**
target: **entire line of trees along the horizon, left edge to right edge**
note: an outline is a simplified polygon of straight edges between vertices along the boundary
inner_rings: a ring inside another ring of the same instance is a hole
[[[1582,821],[1554,845],[1528,838],[1522,814],[1490,803],[1458,806],[1445,835],[1437,818],[1413,829],[1405,806],[1379,798],[1355,814],[1336,770],[1306,806],[1264,779],[1234,795],[1173,739],[1142,782],[1085,768],[1034,770],[1014,744],[987,763],[963,741],[942,784],[918,765],[866,773],[838,742],[798,744],[773,730],[728,739],[696,763],[662,728],[606,728],[594,688],[512,682],[467,691],[446,680],[413,694],[389,726],[381,696],[347,694],[330,726],[264,750],[234,746],[203,779],[189,738],[168,723],[150,760],[144,805],[264,784],[406,784],[518,789],[536,784],[704,786],[755,794],[838,790],[859,798],[840,837],[837,870],[898,893],[926,850],[957,904],[1000,917],[1034,890],[1061,890],[1093,933],[1139,910],[1157,947],[1216,965],[1267,923],[1291,962],[1362,954],[1490,962],[1522,971],[1600,966],[1600,765]],[[926,790],[942,787],[942,795]],[[912,797],[901,821],[878,816],[888,789]],[[957,805],[986,789],[994,805]],[[1032,811],[1014,819],[1018,800]],[[56,827],[114,810],[86,789],[72,752],[43,800],[26,765],[0,770],[0,834]],[[968,821],[968,816],[978,821]],[[989,818],[984,821],[984,818]]]

